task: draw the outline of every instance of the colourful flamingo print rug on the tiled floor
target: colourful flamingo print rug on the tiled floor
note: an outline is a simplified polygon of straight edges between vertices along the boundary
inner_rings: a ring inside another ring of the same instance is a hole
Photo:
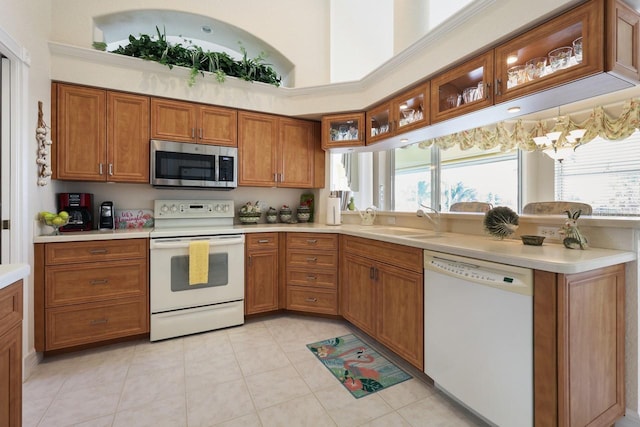
[[[307,344],[307,348],[356,399],[411,378],[353,334]]]

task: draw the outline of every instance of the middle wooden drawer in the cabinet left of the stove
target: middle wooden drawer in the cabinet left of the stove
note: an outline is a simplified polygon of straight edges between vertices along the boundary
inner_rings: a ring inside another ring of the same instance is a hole
[[[79,268],[82,267],[82,268]],[[47,307],[147,294],[147,263],[144,260],[85,265],[55,265],[45,278]]]

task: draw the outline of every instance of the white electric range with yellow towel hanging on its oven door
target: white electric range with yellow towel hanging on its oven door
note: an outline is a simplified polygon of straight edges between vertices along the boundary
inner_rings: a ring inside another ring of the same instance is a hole
[[[233,200],[156,200],[150,233],[151,341],[244,323],[244,234]],[[192,242],[209,243],[208,280],[189,280]]]

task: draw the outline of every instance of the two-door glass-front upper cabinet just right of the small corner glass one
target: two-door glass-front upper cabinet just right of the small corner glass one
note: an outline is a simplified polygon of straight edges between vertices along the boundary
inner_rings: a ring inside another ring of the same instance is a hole
[[[367,145],[428,125],[429,87],[423,83],[367,111]]]

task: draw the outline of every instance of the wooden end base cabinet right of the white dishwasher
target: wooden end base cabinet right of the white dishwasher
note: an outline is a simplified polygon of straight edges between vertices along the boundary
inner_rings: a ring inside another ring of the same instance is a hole
[[[535,272],[535,425],[611,426],[625,413],[624,265]]]

